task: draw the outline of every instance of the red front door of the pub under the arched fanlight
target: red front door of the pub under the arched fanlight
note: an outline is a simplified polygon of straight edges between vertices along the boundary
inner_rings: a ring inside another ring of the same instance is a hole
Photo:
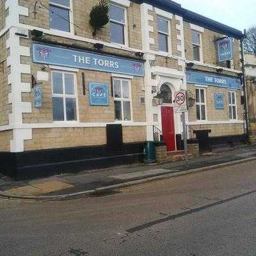
[[[161,107],[163,138],[167,151],[176,150],[173,107]]]

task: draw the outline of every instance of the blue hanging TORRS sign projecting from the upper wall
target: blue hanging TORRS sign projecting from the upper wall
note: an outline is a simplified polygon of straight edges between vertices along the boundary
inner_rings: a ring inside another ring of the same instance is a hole
[[[218,60],[227,61],[233,60],[233,40],[230,37],[220,39],[216,41],[217,51],[218,51]]]

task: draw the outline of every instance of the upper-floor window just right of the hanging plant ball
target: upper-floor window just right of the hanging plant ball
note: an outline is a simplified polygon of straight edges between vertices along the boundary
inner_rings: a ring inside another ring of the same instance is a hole
[[[109,4],[110,41],[125,44],[126,10],[115,4]]]

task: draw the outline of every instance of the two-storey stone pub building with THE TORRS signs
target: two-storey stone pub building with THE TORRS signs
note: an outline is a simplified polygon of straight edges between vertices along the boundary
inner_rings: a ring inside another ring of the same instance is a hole
[[[1,1],[3,173],[27,179],[134,163],[143,143],[160,137],[168,151],[182,150],[179,90],[195,99],[189,140],[203,149],[243,139],[241,31],[173,1],[111,0],[109,23],[93,35],[97,3]]]

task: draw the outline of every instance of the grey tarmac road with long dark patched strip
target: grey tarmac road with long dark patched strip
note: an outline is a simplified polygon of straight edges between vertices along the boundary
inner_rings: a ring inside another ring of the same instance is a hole
[[[255,256],[255,166],[79,200],[0,200],[0,255]]]

